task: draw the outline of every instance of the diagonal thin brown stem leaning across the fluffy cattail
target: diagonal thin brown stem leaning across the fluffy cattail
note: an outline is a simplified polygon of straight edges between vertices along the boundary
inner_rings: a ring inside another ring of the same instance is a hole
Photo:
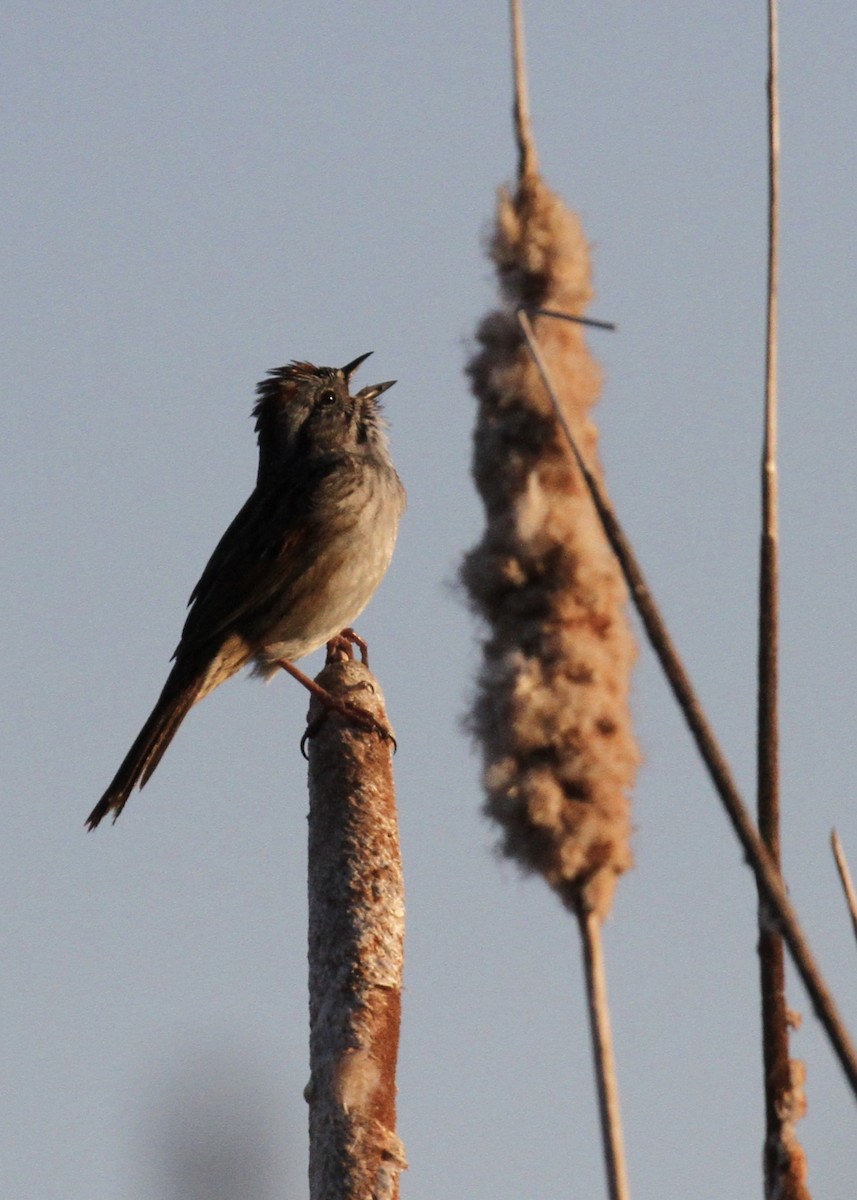
[[[738,840],[753,868],[759,886],[768,901],[773,918],[779,922],[783,936],[789,946],[790,954],[798,970],[804,986],[813,1002],[815,1014],[821,1021],[827,1036],[833,1045],[837,1057],[841,1064],[851,1090],[857,1098],[857,1051],[849,1036],[847,1030],[839,1015],[839,1010],[833,996],[827,988],[809,942],[801,929],[797,913],[789,899],[783,876],[772,860],[765,844],[759,836],[759,832],[753,823],[753,818],[747,811],[747,806],[741,798],[732,772],[717,742],[713,730],[708,724],[702,706],[696,696],[690,678],[684,670],[684,665],[676,650],[672,638],[666,629],[664,618],[660,614],[652,593],[642,574],[636,556],[628,538],[618,522],[612,504],[598,481],[598,478],[587,466],[581,454],[577,440],[569,426],[565,415],[559,406],[556,391],[551,383],[547,365],[541,355],[539,344],[533,332],[533,326],[526,313],[519,312],[519,323],[523,336],[533,355],[533,360],[539,370],[541,380],[556,412],[557,421],[568,442],[571,455],[583,476],[589,496],[599,515],[604,532],[607,536],[613,553],[616,554],[622,572],[628,583],[631,599],[637,610],[640,619],[646,629],[652,648],[660,661],[666,678],[672,688],[672,692],[678,702],[678,707],[690,728],[696,742],[703,763],[708,769],[712,782],[720,797],[726,814],[732,822]]]

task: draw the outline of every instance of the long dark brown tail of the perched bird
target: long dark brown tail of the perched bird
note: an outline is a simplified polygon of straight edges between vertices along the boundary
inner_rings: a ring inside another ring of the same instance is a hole
[[[113,782],[86,818],[88,829],[95,829],[110,811],[115,821],[137,784],[143,787],[193,704],[210,690],[205,686],[208,674],[203,670],[188,677],[176,662],[149,720],[137,734]]]

